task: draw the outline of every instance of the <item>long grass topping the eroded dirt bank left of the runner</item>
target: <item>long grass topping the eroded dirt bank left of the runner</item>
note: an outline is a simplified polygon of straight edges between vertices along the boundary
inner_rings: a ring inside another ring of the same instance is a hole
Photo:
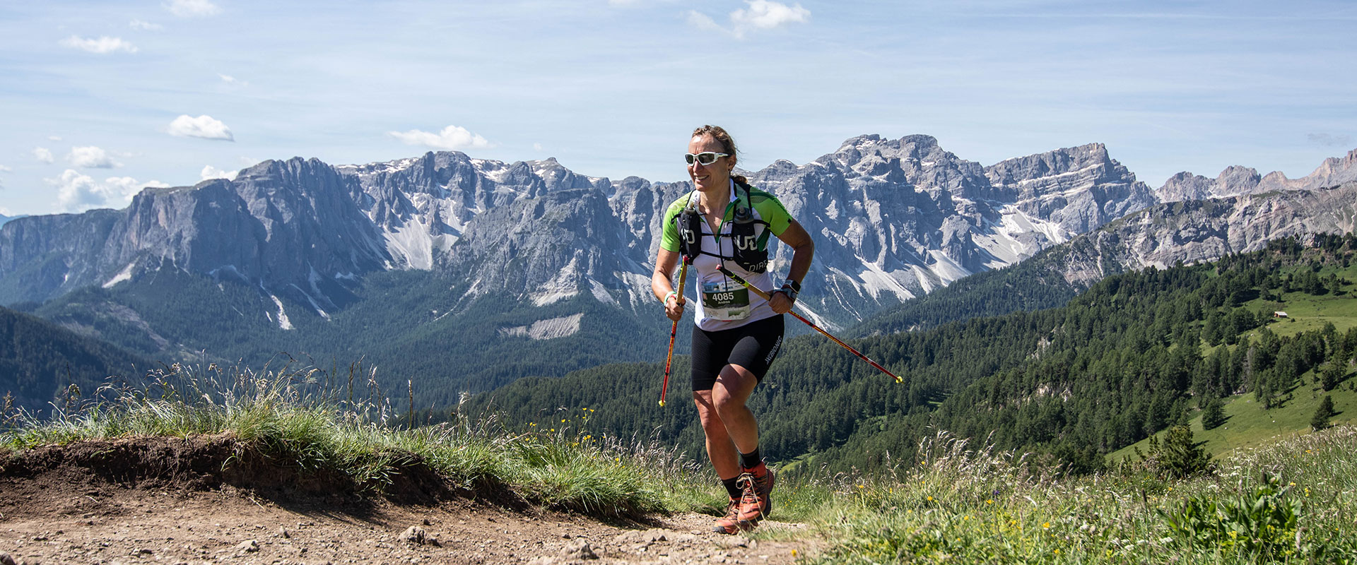
[[[370,375],[369,394],[354,401],[341,398],[351,382],[335,394],[316,385],[316,373],[174,364],[152,373],[151,386],[110,385],[47,419],[5,415],[0,447],[229,434],[265,457],[309,473],[334,470],[369,490],[422,462],[461,488],[510,490],[596,515],[669,512],[711,490],[712,481],[674,448],[600,440],[582,427],[513,431],[495,415],[453,413],[445,423],[403,428]]]

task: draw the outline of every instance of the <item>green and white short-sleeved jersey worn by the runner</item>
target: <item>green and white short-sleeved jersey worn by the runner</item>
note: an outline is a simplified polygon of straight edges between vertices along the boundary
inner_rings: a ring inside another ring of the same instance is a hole
[[[699,304],[695,305],[693,313],[697,327],[706,331],[738,328],[752,321],[778,316],[768,306],[768,301],[759,298],[757,294],[750,293],[749,289],[745,289],[716,270],[716,267],[725,264],[730,272],[740,275],[754,287],[772,290],[772,276],[767,271],[748,271],[733,260],[733,257],[735,257],[737,245],[765,251],[769,240],[768,236],[780,236],[791,225],[791,214],[787,214],[787,209],[772,194],[749,188],[749,202],[742,202],[740,198],[744,194],[746,194],[744,190],[735,190],[735,182],[731,180],[730,203],[726,206],[725,218],[721,221],[721,233],[714,234],[706,219],[697,222],[702,229],[702,234],[697,237],[702,243],[702,252],[696,253],[692,266],[688,268],[689,271],[697,271],[696,286],[700,293],[700,301],[696,301]],[[665,210],[660,248],[681,252],[681,229],[678,221],[685,206],[689,203],[696,206],[696,191],[685,194],[678,196]],[[735,225],[737,209],[748,209],[752,215],[749,218],[750,222],[744,224],[746,226],[752,225],[753,232],[749,233],[746,228],[741,237],[731,234],[731,229]],[[737,238],[740,241],[735,241]]]

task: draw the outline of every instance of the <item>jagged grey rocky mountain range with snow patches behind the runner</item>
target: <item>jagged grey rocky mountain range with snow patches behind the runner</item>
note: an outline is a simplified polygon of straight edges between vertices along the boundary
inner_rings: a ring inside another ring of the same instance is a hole
[[[1323,206],[1343,210],[1341,194],[1316,188],[1357,176],[1354,154],[1304,179],[1232,167],[1216,180],[1182,173],[1155,191],[1102,144],[985,167],[928,135],[862,135],[803,165],[776,161],[744,173],[816,238],[799,302],[843,327],[1109,224],[1115,229],[1098,237],[1122,245],[1114,259],[1126,266],[1210,259],[1297,230],[1352,229],[1337,217],[1300,218]],[[589,177],[554,159],[508,164],[457,152],[365,165],[265,161],[233,180],[147,188],[123,210],[5,224],[0,304],[136,286],[171,268],[258,289],[259,312],[232,306],[232,316],[292,331],[300,318],[323,322],[361,301],[365,276],[406,271],[445,282],[437,304],[422,304],[436,320],[470,312],[484,320],[491,310],[482,301],[494,299],[493,312],[518,312],[499,336],[556,339],[598,312],[650,312],[660,213],[688,190],[687,182]],[[1285,192],[1272,194],[1278,190]],[[1232,203],[1197,201],[1228,194]],[[1194,201],[1163,203],[1182,198]],[[1124,218],[1137,210],[1149,211]],[[772,270],[783,272],[788,259],[778,245]],[[581,320],[584,310],[560,308],[581,298],[601,309]],[[550,316],[531,314],[552,305]],[[551,331],[531,329],[537,321]]]

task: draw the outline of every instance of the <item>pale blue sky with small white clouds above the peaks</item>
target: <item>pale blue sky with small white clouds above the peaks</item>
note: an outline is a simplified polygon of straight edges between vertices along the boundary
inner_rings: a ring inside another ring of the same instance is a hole
[[[0,5],[0,214],[122,207],[266,159],[457,149],[685,177],[930,134],[1105,142],[1159,187],[1357,148],[1357,3],[42,1]]]

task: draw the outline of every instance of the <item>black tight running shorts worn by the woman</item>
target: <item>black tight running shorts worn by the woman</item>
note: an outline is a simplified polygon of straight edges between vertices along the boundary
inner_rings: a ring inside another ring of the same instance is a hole
[[[715,332],[693,325],[692,389],[711,390],[727,364],[745,367],[763,381],[778,351],[782,351],[782,316]]]

